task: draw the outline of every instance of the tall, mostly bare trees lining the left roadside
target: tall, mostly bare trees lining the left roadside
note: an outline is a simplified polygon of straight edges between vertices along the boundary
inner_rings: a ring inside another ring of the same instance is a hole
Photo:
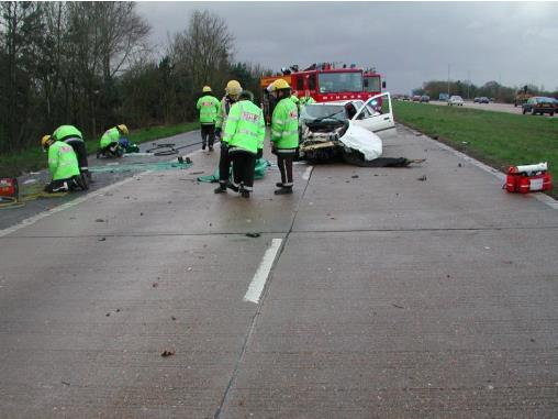
[[[201,87],[217,98],[236,78],[259,93],[258,65],[236,63],[234,36],[214,13],[194,11],[163,53],[134,2],[0,2],[0,152],[36,146],[74,124],[99,137],[196,119]]]

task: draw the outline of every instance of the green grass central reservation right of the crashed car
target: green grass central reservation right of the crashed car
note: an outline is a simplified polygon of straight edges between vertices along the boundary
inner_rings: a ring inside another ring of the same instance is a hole
[[[548,162],[558,180],[558,119],[403,101],[395,121],[446,143],[494,168]],[[557,187],[549,195],[558,197]]]

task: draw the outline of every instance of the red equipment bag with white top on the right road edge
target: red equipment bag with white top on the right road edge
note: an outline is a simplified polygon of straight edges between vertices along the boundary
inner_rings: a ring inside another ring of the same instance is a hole
[[[528,194],[553,189],[553,179],[546,163],[511,166],[505,179],[509,192]]]

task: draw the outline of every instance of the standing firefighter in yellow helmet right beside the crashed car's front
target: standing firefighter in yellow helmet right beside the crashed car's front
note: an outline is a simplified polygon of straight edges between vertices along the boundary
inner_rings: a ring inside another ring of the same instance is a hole
[[[277,155],[277,165],[281,172],[279,189],[275,195],[292,194],[292,162],[299,147],[299,112],[290,99],[291,88],[283,79],[274,81],[272,95],[278,103],[271,115],[271,152]]]

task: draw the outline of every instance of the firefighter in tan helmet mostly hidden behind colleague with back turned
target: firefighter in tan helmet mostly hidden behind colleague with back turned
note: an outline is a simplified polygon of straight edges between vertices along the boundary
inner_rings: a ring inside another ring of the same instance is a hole
[[[215,122],[215,134],[221,137],[221,132],[226,129],[227,117],[231,107],[238,100],[242,93],[242,86],[236,80],[231,80],[225,87],[225,97],[221,100],[217,119]],[[226,140],[221,139],[221,154],[219,156],[219,186],[213,190],[215,194],[226,192],[226,188],[232,184],[228,180],[231,172],[231,158],[228,156],[228,145]],[[233,189],[234,190],[234,189]]]

